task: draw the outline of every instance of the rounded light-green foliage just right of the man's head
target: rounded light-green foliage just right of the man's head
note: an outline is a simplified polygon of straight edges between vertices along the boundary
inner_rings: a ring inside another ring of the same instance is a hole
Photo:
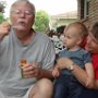
[[[38,32],[45,32],[49,27],[49,15],[40,10],[36,13],[34,28]]]

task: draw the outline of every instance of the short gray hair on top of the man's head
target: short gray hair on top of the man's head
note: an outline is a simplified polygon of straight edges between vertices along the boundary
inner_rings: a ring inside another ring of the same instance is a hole
[[[16,0],[16,1],[11,5],[10,12],[12,11],[12,9],[13,9],[16,4],[19,4],[19,3],[21,3],[21,2],[25,2],[25,3],[29,4],[32,11],[33,11],[34,14],[35,14],[35,5],[34,5],[32,2],[29,2],[29,0]]]

